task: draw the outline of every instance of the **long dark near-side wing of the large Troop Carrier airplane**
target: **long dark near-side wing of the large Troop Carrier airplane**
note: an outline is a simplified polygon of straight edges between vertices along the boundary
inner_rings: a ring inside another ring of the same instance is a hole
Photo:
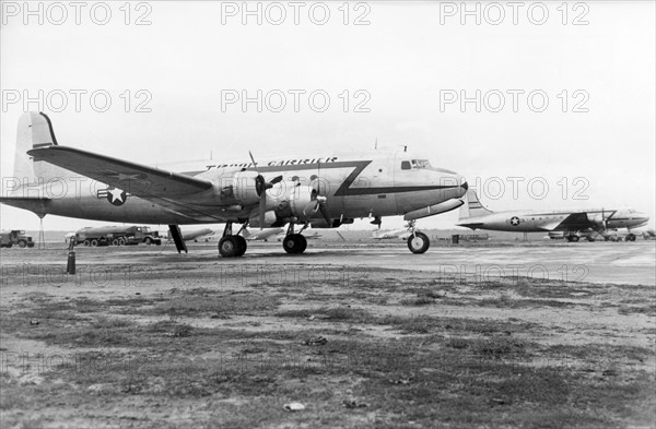
[[[27,154],[35,160],[45,160],[137,196],[171,199],[176,195],[188,196],[212,188],[209,180],[73,147],[48,146],[27,151]]]

